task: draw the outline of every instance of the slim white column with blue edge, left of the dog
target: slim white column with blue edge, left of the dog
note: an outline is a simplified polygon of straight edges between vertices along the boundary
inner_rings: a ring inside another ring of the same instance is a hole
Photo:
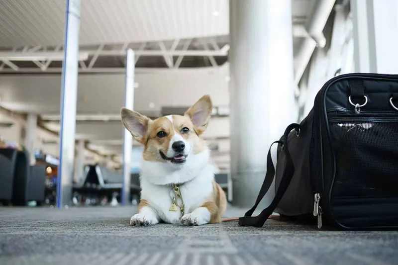
[[[78,86],[78,55],[80,0],[67,0],[65,23],[65,59],[62,65],[60,165],[57,178],[57,207],[72,200],[75,162],[76,99]]]

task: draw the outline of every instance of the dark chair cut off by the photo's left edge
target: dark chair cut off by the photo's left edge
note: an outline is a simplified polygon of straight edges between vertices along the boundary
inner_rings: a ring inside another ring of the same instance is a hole
[[[12,185],[14,181],[14,166],[10,159],[1,154],[0,149],[0,201],[8,205],[12,199]]]

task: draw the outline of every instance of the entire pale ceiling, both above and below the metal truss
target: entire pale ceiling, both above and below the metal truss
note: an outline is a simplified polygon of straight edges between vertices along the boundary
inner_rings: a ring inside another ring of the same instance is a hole
[[[292,0],[294,23],[305,23],[317,0]],[[157,42],[229,34],[229,0],[82,0],[80,45]],[[66,0],[0,0],[0,49],[63,44]],[[298,37],[294,43],[300,43]],[[227,38],[226,38],[227,40]],[[224,40],[223,40],[224,41]],[[296,50],[296,46],[295,46]],[[228,106],[228,63],[220,67],[136,69],[134,109],[158,115],[161,107],[188,107],[203,94]],[[124,74],[83,74],[78,81],[78,115],[119,114]],[[59,115],[61,76],[0,74],[0,104],[16,112]],[[49,123],[59,129],[56,123]],[[121,154],[119,121],[78,122],[77,138],[103,153]],[[229,148],[228,117],[213,118],[206,137]],[[112,144],[113,143],[113,144]],[[221,148],[219,151],[228,152]],[[227,163],[229,156],[219,156]]]

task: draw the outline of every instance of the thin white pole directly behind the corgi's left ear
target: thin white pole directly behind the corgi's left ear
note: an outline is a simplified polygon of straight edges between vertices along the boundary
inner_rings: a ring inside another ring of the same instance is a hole
[[[125,104],[128,109],[134,109],[134,71],[135,58],[132,49],[127,50],[126,62],[126,91]],[[133,148],[133,138],[131,133],[124,128],[123,143],[123,187],[121,196],[121,205],[125,206],[130,202],[130,182],[131,182],[131,152]]]

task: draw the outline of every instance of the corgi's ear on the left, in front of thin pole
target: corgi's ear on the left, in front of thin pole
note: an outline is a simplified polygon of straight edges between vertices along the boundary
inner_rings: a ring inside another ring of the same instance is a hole
[[[137,142],[144,144],[144,136],[146,135],[151,119],[127,108],[122,108],[120,115],[124,127],[131,133],[133,138]]]

